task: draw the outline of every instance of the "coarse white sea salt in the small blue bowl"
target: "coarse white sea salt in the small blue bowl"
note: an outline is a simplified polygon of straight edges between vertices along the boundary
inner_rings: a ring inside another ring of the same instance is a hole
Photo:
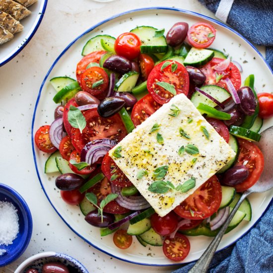
[[[12,244],[19,232],[18,220],[15,206],[10,202],[0,201],[0,245]]]

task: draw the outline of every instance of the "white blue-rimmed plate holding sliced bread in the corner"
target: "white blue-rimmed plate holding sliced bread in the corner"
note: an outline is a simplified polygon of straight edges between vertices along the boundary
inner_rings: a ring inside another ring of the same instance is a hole
[[[47,0],[37,0],[28,7],[31,14],[20,21],[24,29],[15,33],[13,39],[0,45],[0,67],[14,58],[31,40],[43,19],[46,6]]]

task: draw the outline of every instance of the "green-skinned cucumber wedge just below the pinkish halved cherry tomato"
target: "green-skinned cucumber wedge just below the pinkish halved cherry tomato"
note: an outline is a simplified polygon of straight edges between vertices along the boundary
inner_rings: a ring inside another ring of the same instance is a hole
[[[201,67],[214,57],[214,51],[208,49],[191,48],[184,61],[184,66]]]

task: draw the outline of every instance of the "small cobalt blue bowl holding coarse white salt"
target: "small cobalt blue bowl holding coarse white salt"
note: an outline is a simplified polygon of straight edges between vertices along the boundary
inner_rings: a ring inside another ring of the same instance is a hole
[[[0,183],[0,267],[18,259],[27,248],[32,217],[24,199]]]

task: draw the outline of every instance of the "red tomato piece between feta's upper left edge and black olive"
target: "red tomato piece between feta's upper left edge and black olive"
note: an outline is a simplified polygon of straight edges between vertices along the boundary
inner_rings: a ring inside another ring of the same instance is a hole
[[[161,104],[154,101],[150,94],[145,95],[134,105],[132,109],[131,119],[135,127],[141,124],[160,107]]]

